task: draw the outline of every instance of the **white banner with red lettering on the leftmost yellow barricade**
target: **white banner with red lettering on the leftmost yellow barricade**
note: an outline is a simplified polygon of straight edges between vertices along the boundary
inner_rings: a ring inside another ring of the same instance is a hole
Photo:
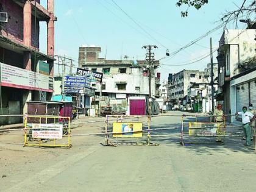
[[[63,126],[60,124],[32,124],[32,138],[62,139]]]

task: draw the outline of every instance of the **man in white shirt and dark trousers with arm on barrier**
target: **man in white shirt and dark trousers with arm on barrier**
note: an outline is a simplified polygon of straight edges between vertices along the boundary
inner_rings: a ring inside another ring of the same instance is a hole
[[[244,135],[246,137],[246,146],[251,146],[251,122],[254,121],[255,116],[251,112],[247,112],[247,107],[243,107],[243,112],[238,112],[236,115],[242,116]]]

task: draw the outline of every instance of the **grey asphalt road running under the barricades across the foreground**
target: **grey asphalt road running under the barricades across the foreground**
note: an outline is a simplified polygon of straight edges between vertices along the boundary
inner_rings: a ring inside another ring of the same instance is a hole
[[[160,133],[176,134],[180,118],[153,118],[152,127],[177,128]],[[103,123],[83,124],[73,133],[103,130]],[[9,149],[22,157],[3,164],[1,155],[0,191],[256,191],[256,153],[240,138],[186,146],[180,146],[179,137],[152,139],[160,145],[115,148],[99,144],[101,136],[73,138],[69,150],[0,143],[0,155]]]

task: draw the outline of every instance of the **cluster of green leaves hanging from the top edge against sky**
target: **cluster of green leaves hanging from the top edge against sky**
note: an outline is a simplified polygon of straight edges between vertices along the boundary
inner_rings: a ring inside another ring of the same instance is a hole
[[[195,9],[199,10],[204,4],[207,4],[208,0],[179,0],[176,3],[177,7],[180,7],[182,5],[187,5],[189,7],[194,7]],[[185,17],[188,16],[188,8],[186,11],[181,12],[181,16]]]

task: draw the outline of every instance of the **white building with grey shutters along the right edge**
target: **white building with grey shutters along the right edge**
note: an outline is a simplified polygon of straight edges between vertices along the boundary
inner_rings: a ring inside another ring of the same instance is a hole
[[[256,107],[256,41],[254,29],[224,30],[219,41],[217,99],[224,104],[224,113],[235,114],[243,106]],[[235,116],[229,118],[235,121]]]

